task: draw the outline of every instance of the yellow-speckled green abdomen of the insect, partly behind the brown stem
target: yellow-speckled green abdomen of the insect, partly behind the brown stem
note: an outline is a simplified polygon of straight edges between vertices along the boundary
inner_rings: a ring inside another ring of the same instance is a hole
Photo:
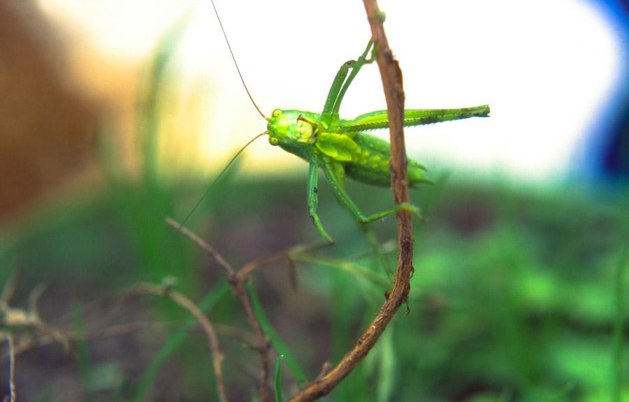
[[[376,186],[391,185],[391,147],[389,142],[366,133],[356,133],[353,138],[359,145],[359,151],[352,155],[352,161],[345,163],[345,173],[359,181]],[[408,184],[411,187],[430,183],[424,174],[424,167],[408,158]]]

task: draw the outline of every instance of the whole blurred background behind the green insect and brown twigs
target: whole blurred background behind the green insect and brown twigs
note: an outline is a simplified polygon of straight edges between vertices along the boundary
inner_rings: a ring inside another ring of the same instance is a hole
[[[411,314],[394,322],[331,400],[609,400],[628,380],[619,348],[626,291],[616,288],[628,233],[626,6],[380,6],[407,107],[489,103],[492,112],[407,130],[410,156],[438,181],[412,193],[431,221],[417,223]],[[369,37],[360,1],[217,7],[266,114],[320,111],[338,67]],[[19,273],[15,304],[48,283],[41,315],[71,331],[77,302],[138,281],[176,276],[194,299],[218,299],[208,289],[222,283],[221,272],[163,221],[187,216],[266,122],[240,84],[208,1],[2,1],[0,88],[0,271],[5,279]],[[342,117],[384,107],[377,68],[368,66]],[[236,266],[317,241],[305,212],[306,172],[303,161],[260,140],[188,225]],[[300,264],[298,291],[282,263],[256,273],[262,304],[308,378],[342,356],[386,289],[341,263],[370,248],[320,188],[321,219],[337,241],[324,255],[338,263]],[[366,211],[391,202],[386,189],[349,191]],[[382,242],[393,239],[392,218],[375,228]],[[369,255],[356,263],[382,274]],[[210,318],[243,326],[229,292],[221,297]],[[161,304],[101,319],[108,311],[83,311],[86,330],[185,318]],[[27,400],[53,401],[213,396],[198,334],[155,363],[161,345],[181,334],[167,329],[94,341],[70,357],[59,345],[29,348],[17,359],[18,389]],[[256,356],[224,338],[231,392],[249,399]],[[51,368],[55,378],[46,375]],[[42,375],[48,381],[35,382]],[[287,373],[286,392],[296,378]]]

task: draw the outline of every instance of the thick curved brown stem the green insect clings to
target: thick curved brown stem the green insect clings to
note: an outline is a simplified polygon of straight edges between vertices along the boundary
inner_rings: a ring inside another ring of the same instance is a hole
[[[363,0],[371,33],[377,48],[377,64],[382,77],[386,110],[389,113],[391,133],[391,184],[396,204],[408,202],[408,184],[406,179],[406,150],[404,145],[403,117],[404,91],[402,72],[389,47],[382,27],[383,14],[376,0]],[[308,383],[290,401],[312,401],[331,392],[373,348],[386,325],[391,322],[400,305],[410,292],[410,277],[413,272],[413,232],[409,211],[399,211],[398,218],[398,271],[393,289],[382,308],[369,327],[363,332],[356,344],[331,371],[321,378]]]

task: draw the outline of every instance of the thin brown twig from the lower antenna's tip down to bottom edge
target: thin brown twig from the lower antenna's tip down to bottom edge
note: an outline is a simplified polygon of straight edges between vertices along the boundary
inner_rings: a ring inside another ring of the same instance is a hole
[[[166,223],[169,226],[171,226],[171,228],[173,228],[174,230],[177,230],[178,232],[183,234],[185,237],[193,241],[194,244],[196,244],[199,248],[201,248],[201,250],[205,251],[205,253],[208,254],[210,258],[214,259],[227,272],[229,285],[231,285],[234,295],[238,297],[240,304],[243,305],[243,308],[245,309],[245,314],[247,315],[247,321],[249,321],[249,324],[251,325],[254,331],[254,335],[256,336],[256,343],[257,343],[256,350],[258,350],[260,354],[260,359],[262,361],[260,387],[259,387],[260,401],[268,402],[269,401],[268,364],[270,362],[270,359],[269,359],[270,345],[268,341],[266,340],[266,336],[264,335],[260,322],[258,321],[258,319],[256,318],[256,315],[254,314],[251,300],[249,298],[249,294],[247,293],[247,290],[245,289],[246,278],[240,278],[236,270],[233,269],[233,267],[231,267],[229,262],[227,262],[222,257],[222,255],[220,255],[212,246],[210,246],[203,239],[201,239],[201,237],[198,237],[197,234],[195,234],[194,232],[191,232],[191,230],[185,228],[174,219],[166,218]]]

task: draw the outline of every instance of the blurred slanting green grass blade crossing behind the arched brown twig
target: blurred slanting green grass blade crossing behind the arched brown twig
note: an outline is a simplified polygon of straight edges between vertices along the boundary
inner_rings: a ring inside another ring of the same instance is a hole
[[[218,304],[218,302],[229,294],[229,285],[226,282],[222,282],[217,285],[214,289],[208,292],[201,302],[198,304],[198,308],[201,308],[203,313],[207,313],[214,306]],[[135,395],[133,396],[133,401],[141,402],[147,399],[148,393],[153,386],[155,380],[157,380],[157,376],[161,372],[161,368],[164,367],[164,364],[168,361],[177,350],[179,350],[189,335],[189,329],[196,325],[196,320],[194,318],[190,318],[186,325],[184,326],[184,330],[182,332],[177,332],[176,334],[172,334],[168,336],[166,342],[161,347],[161,349],[155,354],[150,364],[147,366],[145,371],[140,377],[138,382],[138,387],[136,388]]]

